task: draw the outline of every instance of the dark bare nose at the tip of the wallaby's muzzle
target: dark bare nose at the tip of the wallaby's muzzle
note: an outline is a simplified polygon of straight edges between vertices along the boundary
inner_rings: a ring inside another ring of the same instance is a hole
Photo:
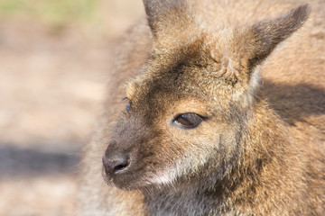
[[[130,165],[130,157],[125,154],[103,156],[103,165],[108,174],[113,175]]]

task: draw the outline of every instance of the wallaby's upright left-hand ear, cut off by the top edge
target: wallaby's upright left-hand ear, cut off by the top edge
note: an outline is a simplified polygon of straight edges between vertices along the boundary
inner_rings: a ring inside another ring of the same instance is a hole
[[[184,0],[144,0],[145,14],[153,37],[186,28],[191,22]]]

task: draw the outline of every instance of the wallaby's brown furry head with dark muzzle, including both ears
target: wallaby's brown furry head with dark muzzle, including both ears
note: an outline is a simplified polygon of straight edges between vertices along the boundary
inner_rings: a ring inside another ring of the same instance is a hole
[[[197,174],[221,179],[242,157],[241,137],[258,100],[258,66],[302,26],[309,6],[212,30],[185,1],[144,0],[144,6],[153,46],[141,75],[126,85],[104,178],[122,189]]]

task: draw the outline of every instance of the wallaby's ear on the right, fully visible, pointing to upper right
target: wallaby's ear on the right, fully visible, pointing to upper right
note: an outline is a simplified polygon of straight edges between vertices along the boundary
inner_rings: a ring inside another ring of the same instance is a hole
[[[277,44],[297,31],[307,20],[309,14],[309,4],[303,4],[274,20],[262,21],[253,25],[252,31],[256,40],[256,47],[249,62],[250,67],[260,64],[270,55]]]

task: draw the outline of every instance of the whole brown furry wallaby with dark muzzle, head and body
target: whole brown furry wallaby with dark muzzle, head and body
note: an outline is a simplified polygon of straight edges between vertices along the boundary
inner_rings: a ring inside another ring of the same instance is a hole
[[[325,1],[144,8],[85,149],[80,214],[325,215]]]

